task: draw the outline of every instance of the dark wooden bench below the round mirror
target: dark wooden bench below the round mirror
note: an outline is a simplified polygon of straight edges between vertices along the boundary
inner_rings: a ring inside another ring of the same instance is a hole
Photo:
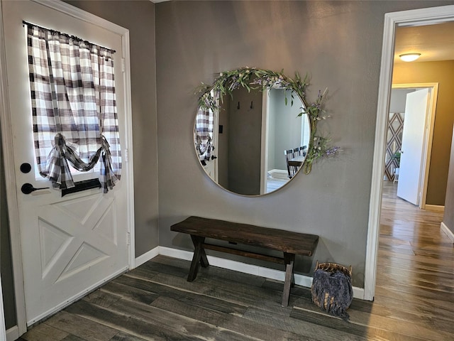
[[[249,224],[226,222],[223,220],[206,219],[201,217],[189,217],[182,222],[173,224],[172,231],[191,235],[194,243],[194,256],[192,257],[191,269],[187,280],[194,281],[199,270],[199,264],[204,268],[209,266],[205,249],[228,252],[240,256],[247,256],[264,261],[272,261],[285,266],[284,291],[282,293],[282,306],[289,304],[290,287],[294,286],[294,260],[295,255],[312,256],[319,236],[298,232],[284,231],[282,229],[270,229]],[[233,249],[205,242],[205,238],[220,239],[233,244],[247,244],[255,247],[264,247],[282,251],[283,257],[269,256],[251,251]]]

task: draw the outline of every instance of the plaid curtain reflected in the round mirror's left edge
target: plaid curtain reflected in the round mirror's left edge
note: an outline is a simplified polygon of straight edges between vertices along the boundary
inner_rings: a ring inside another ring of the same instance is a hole
[[[195,145],[200,161],[210,161],[213,155],[214,114],[211,109],[201,109],[196,115]]]

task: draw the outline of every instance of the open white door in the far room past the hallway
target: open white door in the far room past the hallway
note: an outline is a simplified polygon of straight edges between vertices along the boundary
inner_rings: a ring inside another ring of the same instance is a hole
[[[397,196],[419,205],[429,90],[406,95]]]

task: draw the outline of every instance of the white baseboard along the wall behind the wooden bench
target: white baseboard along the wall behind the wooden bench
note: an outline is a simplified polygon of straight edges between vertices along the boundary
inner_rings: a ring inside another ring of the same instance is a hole
[[[169,256],[177,259],[191,261],[194,252],[172,249],[170,247],[159,247],[159,254],[162,254],[163,256]],[[284,271],[265,268],[263,266],[245,264],[240,261],[232,261],[230,259],[223,259],[214,256],[207,256],[207,258],[211,265],[218,266],[219,268],[243,272],[244,274],[251,274],[265,278],[275,279],[277,281],[285,280]],[[312,277],[295,274],[295,284],[299,286],[305,286],[306,288],[310,288],[312,285]],[[364,288],[353,287],[353,297],[363,300]]]

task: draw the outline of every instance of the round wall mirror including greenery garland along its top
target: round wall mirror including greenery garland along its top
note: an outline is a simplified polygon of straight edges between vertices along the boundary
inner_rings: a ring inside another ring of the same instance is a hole
[[[306,85],[299,75],[292,80],[248,67],[202,85],[194,146],[209,177],[233,193],[264,195],[282,188],[301,168],[309,173],[305,161],[313,155],[314,114],[321,109],[319,100],[306,104]]]

